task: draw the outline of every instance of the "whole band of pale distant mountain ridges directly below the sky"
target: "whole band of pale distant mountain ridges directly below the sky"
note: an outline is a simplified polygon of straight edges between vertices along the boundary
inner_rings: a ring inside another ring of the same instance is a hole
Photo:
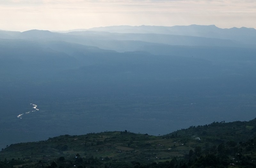
[[[254,28],[221,29],[210,26],[109,26],[76,29],[57,33],[29,30],[25,32],[0,31],[3,39],[60,40],[82,45],[96,46],[119,52],[136,51],[145,46],[256,46]]]

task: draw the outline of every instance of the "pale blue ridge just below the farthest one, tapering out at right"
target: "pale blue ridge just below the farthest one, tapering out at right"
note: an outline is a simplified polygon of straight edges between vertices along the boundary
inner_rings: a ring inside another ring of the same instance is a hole
[[[141,47],[148,45],[183,45],[183,46],[231,46],[248,47],[241,42],[233,40],[224,40],[216,38],[204,38],[194,36],[180,36],[168,34],[138,34],[138,33],[108,33],[108,32],[70,32],[68,34],[83,36],[84,38],[94,39],[94,45],[97,40],[98,47],[104,49],[113,49],[116,51],[136,51]],[[100,41],[101,40],[101,41]],[[106,42],[108,40],[108,42]],[[105,43],[106,42],[106,43]],[[150,44],[154,43],[154,44]],[[86,44],[88,45],[88,44]]]

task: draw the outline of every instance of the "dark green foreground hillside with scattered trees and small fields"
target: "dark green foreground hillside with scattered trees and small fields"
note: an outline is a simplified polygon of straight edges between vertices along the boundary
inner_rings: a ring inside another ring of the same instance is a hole
[[[256,119],[191,126],[168,135],[129,131],[11,144],[0,167],[255,167]]]

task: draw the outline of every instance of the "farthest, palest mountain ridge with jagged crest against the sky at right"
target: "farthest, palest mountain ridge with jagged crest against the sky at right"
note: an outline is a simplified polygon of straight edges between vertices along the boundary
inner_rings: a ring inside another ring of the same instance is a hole
[[[221,29],[214,25],[190,25],[190,26],[108,26],[95,27],[88,30],[106,31],[111,33],[160,33],[172,35],[185,35],[196,37],[208,37],[218,39],[230,39],[244,42],[245,44],[256,44],[256,30],[254,28],[229,28]]]

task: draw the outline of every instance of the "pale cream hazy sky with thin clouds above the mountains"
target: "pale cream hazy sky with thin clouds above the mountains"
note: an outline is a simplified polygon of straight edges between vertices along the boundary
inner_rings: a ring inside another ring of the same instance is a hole
[[[0,29],[70,30],[113,25],[256,28],[256,0],[0,0]]]

